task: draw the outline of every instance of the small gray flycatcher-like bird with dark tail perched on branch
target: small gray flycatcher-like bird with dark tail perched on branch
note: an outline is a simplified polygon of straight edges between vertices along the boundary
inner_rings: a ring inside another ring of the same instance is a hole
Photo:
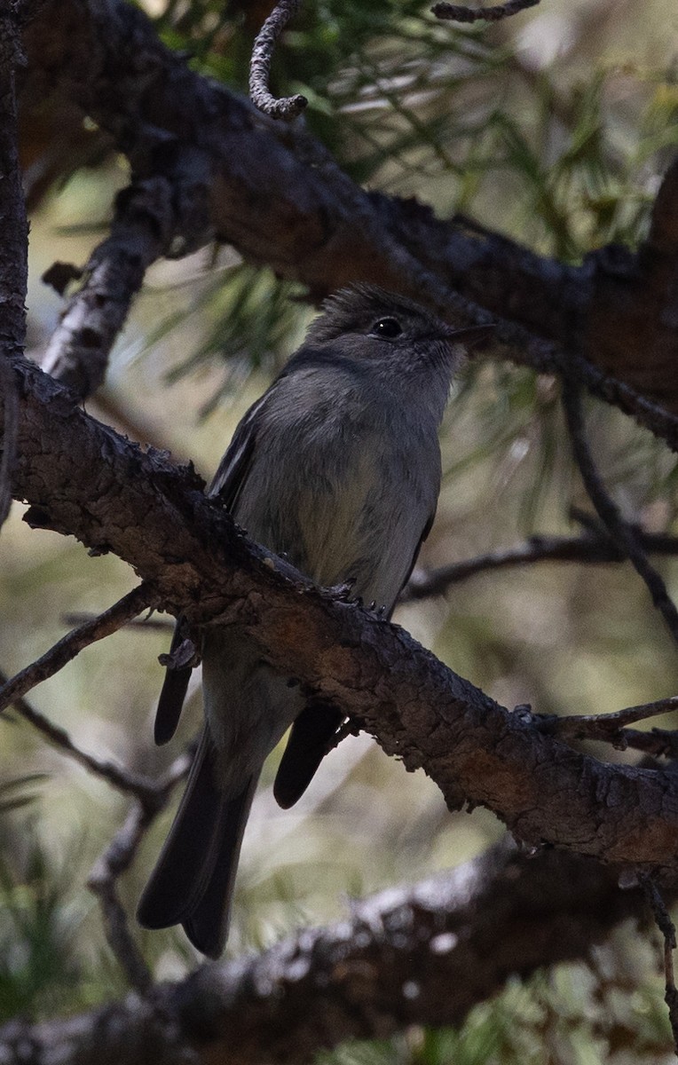
[[[374,284],[335,292],[238,424],[208,494],[312,581],[349,584],[391,617],[435,514],[437,433],[453,374],[486,334],[484,326],[453,329]],[[180,620],[172,649],[183,633]],[[308,701],[292,663],[288,676],[276,672],[237,625],[205,627],[201,659],[204,724],[137,919],[149,929],[182,924],[216,958],[264,760],[291,730],[274,794],[292,806],[346,716]],[[158,743],[175,733],[189,674],[191,666],[167,670]]]

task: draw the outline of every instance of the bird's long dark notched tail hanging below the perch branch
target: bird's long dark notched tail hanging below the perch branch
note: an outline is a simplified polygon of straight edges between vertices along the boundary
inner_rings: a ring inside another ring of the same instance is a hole
[[[226,945],[259,773],[235,794],[221,791],[216,779],[212,744],[203,731],[186,790],[137,908],[145,928],[183,924],[194,947],[209,957],[218,957]]]

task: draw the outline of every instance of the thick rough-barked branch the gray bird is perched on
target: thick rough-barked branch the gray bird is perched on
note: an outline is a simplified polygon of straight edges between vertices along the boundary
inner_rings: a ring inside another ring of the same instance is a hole
[[[343,707],[451,808],[495,810],[529,845],[678,868],[678,780],[606,766],[543,735],[446,669],[402,629],[314,589],[252,545],[191,470],[143,453],[17,361],[14,491],[32,521],[111,550],[192,623],[237,622],[311,695]],[[47,447],[49,442],[49,447]]]

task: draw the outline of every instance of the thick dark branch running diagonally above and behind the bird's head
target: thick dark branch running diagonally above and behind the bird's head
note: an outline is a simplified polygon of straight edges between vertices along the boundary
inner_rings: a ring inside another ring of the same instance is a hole
[[[651,241],[638,256],[602,249],[574,267],[463,219],[441,222],[415,200],[366,193],[302,128],[281,131],[193,73],[122,0],[48,0],[26,39],[27,105],[55,93],[79,106],[128,154],[137,179],[171,168],[180,152],[184,186],[195,201],[203,196],[211,219],[197,227],[202,242],[227,241],[313,296],[360,278],[432,302],[460,324],[498,316],[495,354],[553,372],[573,349],[588,388],[678,446],[666,416],[678,409],[678,365],[666,356],[678,332],[667,304],[675,248],[662,248],[661,271]],[[195,226],[179,230],[196,240]]]

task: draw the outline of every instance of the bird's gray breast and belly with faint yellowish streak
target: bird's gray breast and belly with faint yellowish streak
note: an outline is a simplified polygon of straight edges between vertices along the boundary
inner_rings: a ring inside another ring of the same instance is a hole
[[[353,579],[390,608],[435,509],[437,426],[350,380],[310,383],[282,381],[262,410],[234,515],[317,584]]]

